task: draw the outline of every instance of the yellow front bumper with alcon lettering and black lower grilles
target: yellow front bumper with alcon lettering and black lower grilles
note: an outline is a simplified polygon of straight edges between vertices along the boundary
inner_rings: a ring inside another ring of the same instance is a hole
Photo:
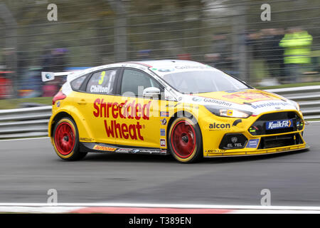
[[[281,120],[283,113],[290,113],[290,115],[294,113],[297,118],[297,120],[292,120],[294,128],[291,130],[268,130],[267,132],[265,125],[269,120],[261,121],[261,119],[272,115],[275,116],[275,119],[280,118]],[[262,113],[241,120],[208,115],[207,118],[199,120],[203,135],[203,157],[264,155],[304,150],[308,148],[302,137],[304,124],[298,128],[295,126],[298,121],[304,123],[302,114],[297,110]],[[262,133],[250,132],[250,128],[255,123],[259,123],[260,128],[264,129]],[[232,144],[233,137],[238,138],[239,147],[228,147],[229,143]]]

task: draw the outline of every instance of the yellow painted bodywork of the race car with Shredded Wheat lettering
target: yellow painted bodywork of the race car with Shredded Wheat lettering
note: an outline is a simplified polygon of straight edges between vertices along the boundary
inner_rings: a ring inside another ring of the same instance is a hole
[[[239,93],[214,92],[198,95],[203,98],[214,98],[237,104],[245,102],[254,103],[260,100],[279,100],[277,95],[260,90],[255,90],[255,93],[246,90]],[[101,142],[109,145],[151,147],[166,150],[168,148],[167,134],[171,120],[182,111],[191,114],[198,121],[202,134],[204,157],[260,155],[288,150],[300,150],[306,147],[306,142],[303,140],[303,143],[299,145],[262,150],[248,147],[235,150],[219,149],[220,142],[226,133],[241,133],[245,135],[247,140],[270,136],[254,136],[248,131],[248,128],[250,128],[252,123],[255,123],[255,120],[260,115],[265,115],[268,112],[252,115],[249,118],[241,118],[241,123],[233,125],[235,120],[239,118],[219,117],[210,113],[203,105],[194,103],[75,91],[72,91],[67,95],[67,98],[58,100],[53,105],[53,115],[48,124],[48,133],[51,137],[52,128],[55,122],[58,121],[55,117],[59,113],[68,113],[75,120],[80,142]],[[282,111],[284,110],[279,110],[279,112]],[[303,120],[301,112],[293,109],[285,109],[285,111],[293,111]],[[270,113],[275,112],[278,111],[271,111]],[[166,122],[165,125],[164,122]],[[213,123],[228,126],[228,128],[209,128],[210,124]],[[303,130],[304,126],[302,130],[296,132],[275,135],[299,133],[302,137]]]

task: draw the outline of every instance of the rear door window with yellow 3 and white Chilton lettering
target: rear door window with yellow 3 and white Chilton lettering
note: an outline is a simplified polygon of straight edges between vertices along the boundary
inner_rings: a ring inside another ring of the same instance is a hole
[[[87,82],[87,93],[113,94],[116,75],[116,69],[94,73]]]

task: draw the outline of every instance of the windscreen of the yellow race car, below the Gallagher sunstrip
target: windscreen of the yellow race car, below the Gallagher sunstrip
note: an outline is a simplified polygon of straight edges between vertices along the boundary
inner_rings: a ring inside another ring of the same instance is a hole
[[[244,83],[218,70],[169,73],[162,78],[181,93],[209,93],[248,88]]]

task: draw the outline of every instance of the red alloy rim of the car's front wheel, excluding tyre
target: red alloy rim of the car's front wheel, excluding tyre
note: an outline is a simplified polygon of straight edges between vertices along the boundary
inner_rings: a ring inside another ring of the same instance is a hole
[[[171,133],[171,145],[178,157],[186,158],[192,155],[196,147],[196,133],[186,120],[181,120]]]

